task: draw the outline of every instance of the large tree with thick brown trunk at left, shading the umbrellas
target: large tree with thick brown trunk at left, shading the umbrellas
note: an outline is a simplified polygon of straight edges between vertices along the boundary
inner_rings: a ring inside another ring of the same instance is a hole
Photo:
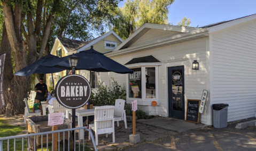
[[[22,100],[27,97],[30,77],[14,76],[13,72],[47,54],[57,36],[90,39],[91,29],[103,29],[102,23],[118,2],[1,0],[0,13],[3,12],[4,20],[0,14],[0,29],[3,28],[0,53],[6,52],[4,94],[7,106],[0,113],[11,116],[24,112]]]

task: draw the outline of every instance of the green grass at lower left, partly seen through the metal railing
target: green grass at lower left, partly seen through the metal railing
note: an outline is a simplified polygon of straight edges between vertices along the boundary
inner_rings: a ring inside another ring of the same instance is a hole
[[[33,108],[32,108],[33,110]],[[9,125],[7,124],[7,122],[9,122],[10,120],[6,120],[4,118],[0,118],[0,138],[1,137],[8,137],[8,136],[15,136],[18,133],[20,133],[21,131],[25,130],[25,127],[20,127],[20,126],[13,126],[13,125]],[[16,146],[16,150],[22,150],[22,141],[15,141],[15,146]],[[87,144],[84,144],[84,150],[89,151],[91,150],[89,147],[86,146]],[[9,147],[10,150],[14,150],[14,140],[10,140],[9,141]],[[24,139],[24,150],[26,150],[27,148],[27,139]],[[67,145],[65,147],[65,150],[67,150]],[[3,149],[4,151],[7,150],[7,140],[3,141]],[[79,149],[79,145],[76,145],[76,150]],[[38,151],[41,150],[41,146],[37,149]],[[43,147],[43,150],[47,150],[46,147]],[[51,150],[51,146],[48,147],[48,150]],[[60,145],[60,150],[63,150],[63,145]],[[83,150],[83,145],[80,144],[80,150]]]

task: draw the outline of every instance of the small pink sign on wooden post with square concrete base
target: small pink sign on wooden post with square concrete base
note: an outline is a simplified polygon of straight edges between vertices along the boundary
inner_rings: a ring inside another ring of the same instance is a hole
[[[136,135],[136,112],[137,111],[137,100],[131,102],[131,110],[133,111],[133,134],[129,136],[131,144],[137,144],[139,142],[139,134]]]

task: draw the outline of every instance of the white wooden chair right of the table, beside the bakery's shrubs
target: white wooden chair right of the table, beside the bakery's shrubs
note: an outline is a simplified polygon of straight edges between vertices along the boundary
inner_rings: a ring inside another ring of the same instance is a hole
[[[124,99],[115,99],[114,121],[117,122],[118,127],[119,121],[125,122],[125,129],[127,129],[125,103]]]

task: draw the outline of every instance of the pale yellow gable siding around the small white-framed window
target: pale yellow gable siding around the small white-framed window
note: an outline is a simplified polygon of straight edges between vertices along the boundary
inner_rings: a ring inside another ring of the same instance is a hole
[[[119,46],[121,44],[121,42],[117,38],[115,38],[115,36],[113,34],[111,34],[110,36],[107,36],[105,39],[102,39],[102,40],[98,41],[98,43],[93,45],[95,51],[104,53],[104,52],[108,52],[108,51],[112,50],[112,49],[105,49],[105,43],[104,43],[105,40],[115,41],[115,42],[117,42],[117,46]],[[90,47],[86,48],[85,50],[87,50],[87,49],[90,49]]]

